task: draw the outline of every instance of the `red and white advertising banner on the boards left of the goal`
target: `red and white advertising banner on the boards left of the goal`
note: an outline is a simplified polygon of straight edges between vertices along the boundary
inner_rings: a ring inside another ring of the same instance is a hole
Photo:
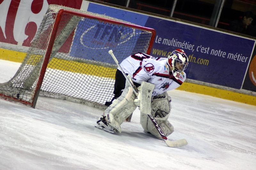
[[[80,9],[82,0],[0,1],[0,42],[29,47],[50,4]]]

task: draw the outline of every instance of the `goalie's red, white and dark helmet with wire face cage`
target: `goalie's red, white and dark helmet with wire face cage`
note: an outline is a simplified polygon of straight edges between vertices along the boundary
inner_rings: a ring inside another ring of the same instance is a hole
[[[176,74],[180,74],[188,67],[188,57],[182,49],[175,49],[168,56],[167,65],[169,65],[172,74],[176,78]]]

